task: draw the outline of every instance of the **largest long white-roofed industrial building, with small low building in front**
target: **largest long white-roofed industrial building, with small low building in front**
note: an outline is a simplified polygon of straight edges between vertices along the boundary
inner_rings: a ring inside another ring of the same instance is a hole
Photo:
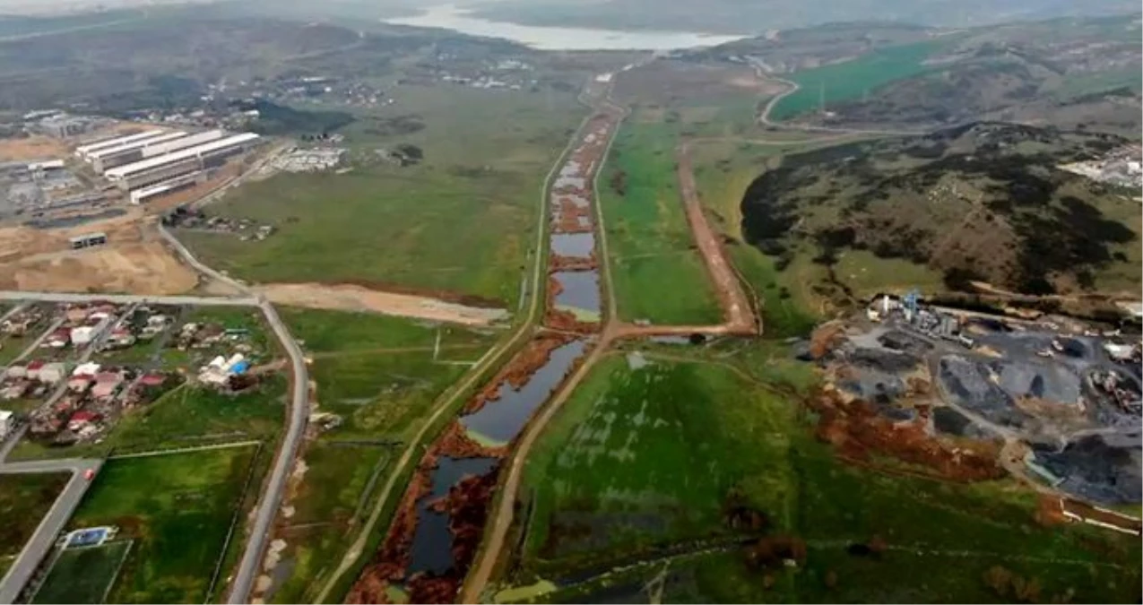
[[[253,133],[231,135],[201,145],[110,168],[103,173],[103,176],[123,191],[135,191],[222,166],[227,158],[249,151],[258,143],[259,138]]]

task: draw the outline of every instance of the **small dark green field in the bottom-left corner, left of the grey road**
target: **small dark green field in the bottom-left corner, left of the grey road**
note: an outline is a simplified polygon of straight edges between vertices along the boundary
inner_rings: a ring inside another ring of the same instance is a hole
[[[62,472],[0,475],[0,518],[7,519],[0,525],[0,576],[35,533],[69,478]]]

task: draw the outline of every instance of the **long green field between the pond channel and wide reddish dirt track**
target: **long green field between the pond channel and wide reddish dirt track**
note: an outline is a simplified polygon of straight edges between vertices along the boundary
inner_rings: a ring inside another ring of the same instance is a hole
[[[660,325],[717,324],[722,312],[682,208],[673,127],[621,127],[600,175],[599,201],[620,317]],[[621,192],[614,183],[623,173]]]

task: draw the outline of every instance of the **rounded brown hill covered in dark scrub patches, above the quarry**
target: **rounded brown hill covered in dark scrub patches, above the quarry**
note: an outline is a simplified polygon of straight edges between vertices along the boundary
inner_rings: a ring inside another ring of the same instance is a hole
[[[1137,234],[1105,216],[1103,186],[1056,167],[1125,143],[982,122],[791,156],[748,189],[744,233],[780,263],[807,246],[829,266],[868,250],[940,270],[953,288],[1092,288],[1137,262]]]

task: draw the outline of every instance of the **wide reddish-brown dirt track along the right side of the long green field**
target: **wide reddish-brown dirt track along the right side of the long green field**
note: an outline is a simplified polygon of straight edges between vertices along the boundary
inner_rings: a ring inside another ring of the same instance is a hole
[[[695,183],[694,167],[690,161],[690,144],[684,143],[678,150],[679,188],[682,192],[682,204],[687,210],[687,221],[695,236],[695,244],[703,255],[706,271],[714,281],[719,302],[722,304],[727,334],[744,336],[761,334],[761,325],[750,304],[746,290],[738,281],[738,276],[726,258],[726,252],[718,234],[711,229],[703,204],[698,198],[698,185]]]

